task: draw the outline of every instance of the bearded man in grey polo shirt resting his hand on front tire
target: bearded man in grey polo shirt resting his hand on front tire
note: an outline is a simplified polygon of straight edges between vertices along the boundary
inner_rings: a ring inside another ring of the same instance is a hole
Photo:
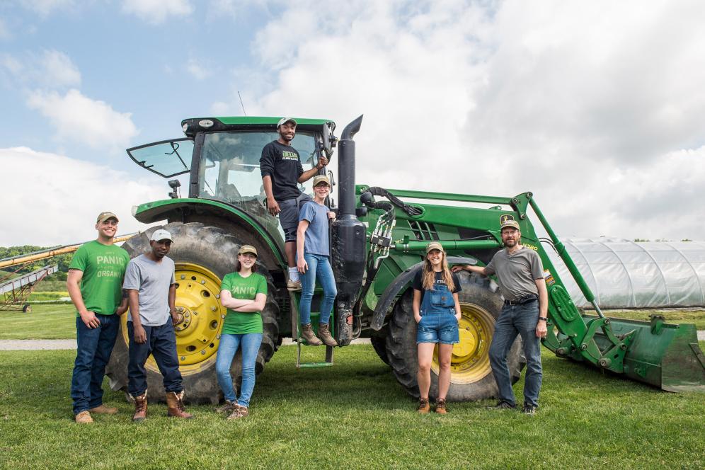
[[[546,338],[548,294],[544,281],[544,268],[539,254],[521,244],[519,223],[506,219],[500,226],[503,250],[498,251],[484,268],[471,265],[453,266],[482,275],[496,274],[504,296],[504,306],[497,322],[490,345],[490,365],[499,389],[499,402],[493,408],[516,408],[512,379],[507,366],[507,355],[517,334],[522,336],[527,372],[524,385],[523,413],[533,415],[539,406],[541,390],[541,343]]]

